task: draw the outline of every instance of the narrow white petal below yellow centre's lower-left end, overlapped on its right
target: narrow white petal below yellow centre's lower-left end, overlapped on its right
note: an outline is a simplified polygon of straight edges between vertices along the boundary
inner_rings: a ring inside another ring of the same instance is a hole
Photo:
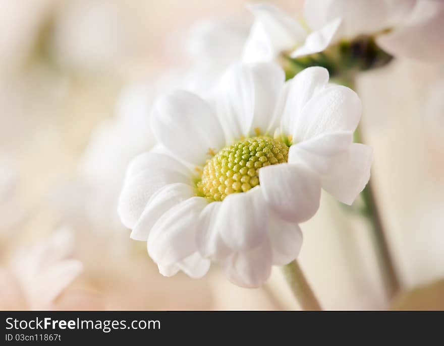
[[[220,260],[227,257],[231,250],[224,243],[217,228],[217,216],[222,202],[212,202],[205,206],[199,216],[196,241],[202,256],[212,260]]]

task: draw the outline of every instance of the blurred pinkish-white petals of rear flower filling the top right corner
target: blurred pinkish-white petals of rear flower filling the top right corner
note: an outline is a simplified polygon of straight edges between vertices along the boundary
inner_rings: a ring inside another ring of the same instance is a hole
[[[377,34],[393,55],[440,62],[444,58],[444,2],[436,0],[306,0],[304,18],[320,29],[342,18],[341,37]],[[383,30],[390,29],[387,32]]]

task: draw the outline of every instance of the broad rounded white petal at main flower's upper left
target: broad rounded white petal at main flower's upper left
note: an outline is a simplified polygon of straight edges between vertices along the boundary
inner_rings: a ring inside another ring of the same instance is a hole
[[[157,140],[175,157],[204,165],[208,151],[225,144],[224,133],[210,105],[199,96],[175,91],[160,98],[151,117]]]

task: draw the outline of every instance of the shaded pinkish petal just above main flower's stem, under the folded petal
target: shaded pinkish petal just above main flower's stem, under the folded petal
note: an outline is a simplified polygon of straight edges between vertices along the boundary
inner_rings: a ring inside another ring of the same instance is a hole
[[[299,255],[302,232],[298,224],[286,222],[278,216],[270,217],[268,237],[273,265],[288,264]]]

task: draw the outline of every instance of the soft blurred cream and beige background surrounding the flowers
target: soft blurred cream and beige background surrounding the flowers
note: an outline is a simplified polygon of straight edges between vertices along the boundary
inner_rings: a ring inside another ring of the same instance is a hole
[[[271,3],[295,15],[301,8]],[[249,23],[245,4],[0,0],[0,309],[299,309],[279,268],[254,290],[232,285],[217,267],[201,280],[164,278],[115,207],[128,153],[152,145],[148,129],[137,145],[122,130],[125,95],[138,88],[152,102],[152,81],[186,70],[192,26],[224,16]],[[444,279],[444,61],[396,59],[361,74],[357,92],[403,288],[436,283]],[[300,263],[325,308],[394,304],[365,221],[324,194],[301,227]],[[61,276],[60,259],[74,279]],[[64,280],[53,300],[42,299]],[[434,285],[432,302],[406,306],[442,308],[444,288]],[[403,308],[399,299],[393,306]]]

